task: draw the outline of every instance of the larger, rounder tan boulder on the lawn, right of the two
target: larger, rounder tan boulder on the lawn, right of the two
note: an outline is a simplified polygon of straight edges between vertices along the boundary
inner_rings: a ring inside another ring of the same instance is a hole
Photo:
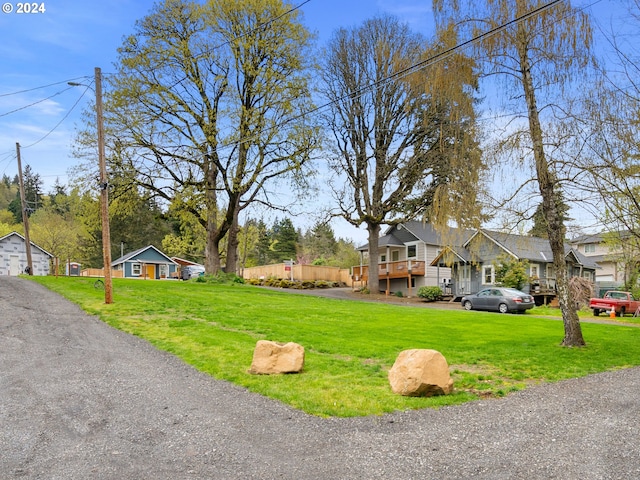
[[[453,391],[449,365],[437,350],[405,350],[389,370],[391,390],[409,397],[446,395]]]

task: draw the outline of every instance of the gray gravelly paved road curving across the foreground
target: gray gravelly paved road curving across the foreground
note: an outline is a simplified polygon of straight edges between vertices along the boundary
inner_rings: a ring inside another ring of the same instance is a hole
[[[0,277],[2,479],[636,479],[640,369],[321,419]]]

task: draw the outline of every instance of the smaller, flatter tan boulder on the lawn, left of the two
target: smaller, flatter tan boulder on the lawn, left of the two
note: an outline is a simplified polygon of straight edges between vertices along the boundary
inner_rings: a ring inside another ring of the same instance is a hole
[[[258,340],[253,351],[249,373],[299,373],[304,367],[304,347],[297,343],[279,343]]]

